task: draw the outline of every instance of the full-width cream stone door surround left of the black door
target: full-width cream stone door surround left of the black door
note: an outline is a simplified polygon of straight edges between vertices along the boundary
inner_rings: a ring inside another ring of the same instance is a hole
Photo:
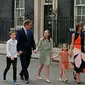
[[[36,44],[43,37],[45,0],[34,0],[34,37]]]

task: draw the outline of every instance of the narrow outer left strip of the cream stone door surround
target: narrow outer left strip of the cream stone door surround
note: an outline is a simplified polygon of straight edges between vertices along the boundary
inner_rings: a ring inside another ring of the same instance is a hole
[[[34,38],[38,43],[38,0],[34,0]]]

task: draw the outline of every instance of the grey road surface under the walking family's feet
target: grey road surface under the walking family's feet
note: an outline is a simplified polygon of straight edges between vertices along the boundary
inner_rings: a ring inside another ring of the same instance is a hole
[[[7,80],[3,81],[2,79],[2,74],[6,66],[6,56],[5,55],[0,55],[0,85],[13,85],[12,84],[12,66],[10,67],[10,70],[7,73]],[[45,68],[43,68],[41,77],[42,80],[37,79],[37,71],[39,67],[39,61],[38,59],[31,59],[30,66],[28,68],[29,74],[30,74],[30,84],[27,85],[77,85],[76,81],[73,80],[73,70],[67,71],[67,78],[68,82],[65,84],[63,81],[59,81],[59,63],[58,62],[52,62],[50,65],[50,72],[49,72],[49,80],[51,83],[45,82]],[[26,85],[24,81],[20,80],[19,77],[19,72],[21,70],[21,64],[20,64],[20,59],[18,57],[17,60],[17,81],[19,85]],[[81,85],[85,85],[85,74],[81,74],[81,80],[82,83]]]

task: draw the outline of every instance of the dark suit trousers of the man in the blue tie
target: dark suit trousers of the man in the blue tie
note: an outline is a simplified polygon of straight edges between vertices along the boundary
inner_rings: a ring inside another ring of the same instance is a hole
[[[25,77],[25,80],[29,80],[29,72],[28,72],[28,67],[29,67],[29,64],[30,64],[30,59],[31,59],[31,54],[30,55],[24,55],[24,54],[21,54],[20,55],[20,60],[21,60],[21,67],[22,67],[22,70],[20,72],[20,76],[21,77]]]

